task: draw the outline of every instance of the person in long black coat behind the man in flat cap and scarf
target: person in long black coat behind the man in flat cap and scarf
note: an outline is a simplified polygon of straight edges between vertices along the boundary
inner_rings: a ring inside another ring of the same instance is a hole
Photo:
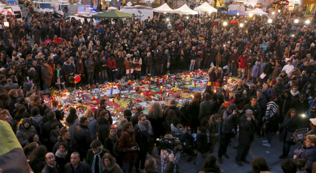
[[[79,128],[75,131],[76,149],[80,153],[81,160],[84,159],[90,148],[91,134],[88,129],[88,120],[85,117],[80,119]]]

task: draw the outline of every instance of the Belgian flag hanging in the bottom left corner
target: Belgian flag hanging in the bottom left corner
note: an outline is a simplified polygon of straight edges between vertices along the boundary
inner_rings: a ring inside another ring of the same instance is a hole
[[[11,126],[0,117],[0,168],[3,173],[32,172]]]

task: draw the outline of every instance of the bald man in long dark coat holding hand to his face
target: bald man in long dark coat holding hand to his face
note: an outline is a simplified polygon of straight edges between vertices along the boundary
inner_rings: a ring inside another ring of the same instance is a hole
[[[242,166],[241,161],[245,163],[250,163],[246,160],[249,153],[251,142],[254,140],[256,126],[258,125],[255,116],[253,116],[253,111],[247,109],[245,114],[239,119],[239,138],[238,138],[238,151],[236,156],[236,162],[239,166]]]

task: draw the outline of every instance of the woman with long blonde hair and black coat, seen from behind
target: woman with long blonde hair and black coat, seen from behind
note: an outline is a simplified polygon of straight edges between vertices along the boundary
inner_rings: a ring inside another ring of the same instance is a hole
[[[164,135],[164,131],[162,130],[164,129],[163,108],[159,102],[155,101],[149,105],[147,119],[152,126],[155,138],[160,138],[160,136]]]

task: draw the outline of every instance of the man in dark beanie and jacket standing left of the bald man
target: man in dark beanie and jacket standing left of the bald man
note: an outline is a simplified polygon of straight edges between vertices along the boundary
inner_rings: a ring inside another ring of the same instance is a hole
[[[218,162],[223,163],[222,156],[224,155],[226,158],[229,159],[229,156],[226,154],[227,147],[231,138],[233,137],[233,128],[235,124],[238,122],[237,117],[238,111],[236,104],[231,104],[227,110],[224,111],[223,114],[223,126],[219,141],[219,148],[218,148]]]

